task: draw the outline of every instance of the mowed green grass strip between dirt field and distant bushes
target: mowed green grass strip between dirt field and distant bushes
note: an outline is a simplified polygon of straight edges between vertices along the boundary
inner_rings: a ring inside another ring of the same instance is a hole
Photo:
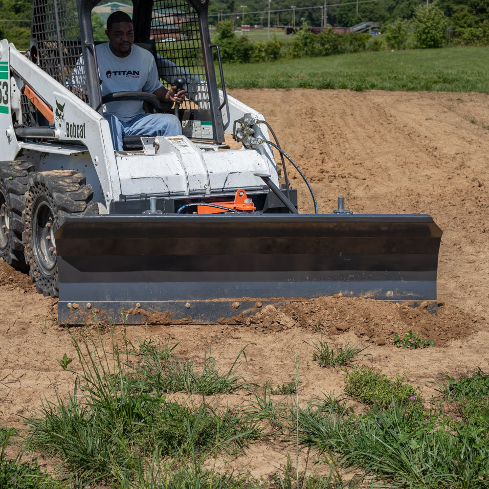
[[[225,65],[227,88],[476,91],[489,93],[489,47],[361,52]]]

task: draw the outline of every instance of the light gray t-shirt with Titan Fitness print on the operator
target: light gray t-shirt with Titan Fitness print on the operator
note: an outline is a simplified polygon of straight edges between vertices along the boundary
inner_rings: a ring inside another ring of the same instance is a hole
[[[146,49],[133,44],[131,53],[125,58],[119,58],[112,53],[109,43],[104,43],[96,46],[96,52],[102,95],[118,91],[153,93],[163,86],[159,81],[155,58]],[[144,113],[143,102],[109,102],[104,106],[104,113],[113,114],[127,122]]]

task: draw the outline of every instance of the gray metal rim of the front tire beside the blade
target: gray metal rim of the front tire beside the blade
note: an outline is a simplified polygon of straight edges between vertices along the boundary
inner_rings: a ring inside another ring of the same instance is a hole
[[[44,198],[36,203],[32,224],[36,262],[45,275],[50,275],[56,266],[56,242],[54,240],[56,221],[51,205]]]

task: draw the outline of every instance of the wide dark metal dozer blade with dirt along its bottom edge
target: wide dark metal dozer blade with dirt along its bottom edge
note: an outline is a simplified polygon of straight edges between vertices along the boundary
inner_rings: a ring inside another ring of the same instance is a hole
[[[55,233],[58,321],[225,323],[338,293],[436,312],[441,236],[416,214],[68,217]]]

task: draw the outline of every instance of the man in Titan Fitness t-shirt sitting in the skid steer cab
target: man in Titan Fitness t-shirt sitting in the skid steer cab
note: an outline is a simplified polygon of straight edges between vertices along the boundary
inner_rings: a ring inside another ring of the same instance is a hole
[[[177,91],[176,86],[169,90],[163,87],[153,55],[133,44],[133,21],[127,13],[113,12],[107,19],[105,33],[109,42],[96,46],[102,96],[121,91],[145,91],[154,93],[162,102],[183,102],[185,91]],[[83,65],[79,64],[71,78],[76,79],[82,74]],[[146,113],[143,102],[139,100],[109,102],[104,106],[104,117],[109,121],[116,151],[122,151],[123,136],[174,136],[182,133],[178,117]]]

